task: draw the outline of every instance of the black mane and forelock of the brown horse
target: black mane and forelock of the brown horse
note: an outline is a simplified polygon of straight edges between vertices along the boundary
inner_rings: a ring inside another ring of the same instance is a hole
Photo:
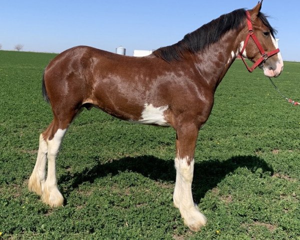
[[[237,29],[246,24],[245,9],[236,9],[230,13],[223,14],[220,17],[202,25],[193,32],[187,33],[182,40],[177,43],[160,47],[153,54],[163,60],[170,62],[172,60],[180,60],[184,52],[195,53],[204,49],[210,44],[217,42],[219,38],[229,30]],[[274,36],[276,32],[267,20],[267,17],[259,12],[258,17],[263,24],[270,28],[271,34]]]

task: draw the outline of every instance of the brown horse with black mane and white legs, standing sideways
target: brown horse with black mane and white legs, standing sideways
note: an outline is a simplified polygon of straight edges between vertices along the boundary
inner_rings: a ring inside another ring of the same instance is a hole
[[[65,132],[80,111],[96,107],[135,123],[170,126],[176,132],[174,206],[193,231],[206,217],[192,198],[194,151],[206,122],[214,92],[240,55],[277,77],[283,60],[262,1],[252,9],[236,9],[187,33],[177,43],[144,57],[124,56],[89,46],[67,49],[44,69],[42,94],[53,120],[39,136],[37,159],[28,189],[51,207],[63,205],[57,188],[55,158]],[[46,176],[47,162],[47,176]]]

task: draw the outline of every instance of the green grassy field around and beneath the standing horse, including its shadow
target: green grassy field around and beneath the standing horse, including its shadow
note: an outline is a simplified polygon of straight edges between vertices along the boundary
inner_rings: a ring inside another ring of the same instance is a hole
[[[261,70],[236,60],[199,132],[193,197],[208,223],[183,225],[173,207],[175,132],[83,110],[57,157],[64,207],[27,190],[38,137],[51,121],[41,96],[55,54],[0,51],[0,238],[300,239],[300,107]],[[300,63],[274,79],[300,100]]]

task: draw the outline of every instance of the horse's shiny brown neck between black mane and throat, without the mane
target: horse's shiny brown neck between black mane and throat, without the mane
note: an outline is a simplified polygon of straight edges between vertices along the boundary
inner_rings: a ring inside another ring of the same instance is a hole
[[[237,57],[240,43],[238,31],[228,31],[218,42],[196,53],[194,65],[202,80],[214,90]]]

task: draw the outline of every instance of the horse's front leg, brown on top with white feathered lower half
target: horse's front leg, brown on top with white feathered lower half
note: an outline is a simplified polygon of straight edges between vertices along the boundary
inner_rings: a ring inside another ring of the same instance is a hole
[[[205,216],[198,210],[191,194],[197,135],[198,128],[193,123],[182,124],[176,129],[176,183],[173,200],[184,223],[193,231],[198,231],[206,223]]]

